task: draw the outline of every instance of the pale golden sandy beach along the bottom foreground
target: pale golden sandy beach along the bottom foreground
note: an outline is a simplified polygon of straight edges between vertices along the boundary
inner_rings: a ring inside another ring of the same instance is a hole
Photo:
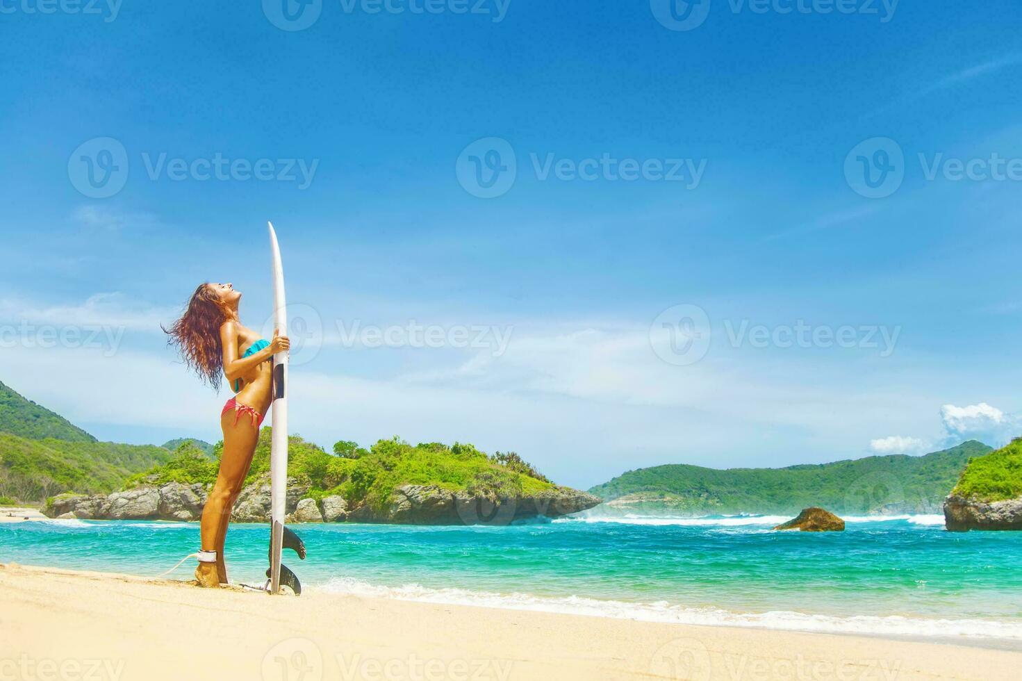
[[[182,569],[183,570],[183,569]],[[1010,679],[1022,653],[0,565],[0,679]]]

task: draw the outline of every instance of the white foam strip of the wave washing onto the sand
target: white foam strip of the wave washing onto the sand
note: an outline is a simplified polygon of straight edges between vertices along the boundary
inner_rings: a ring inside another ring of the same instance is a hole
[[[770,612],[732,612],[714,607],[684,607],[666,601],[630,603],[580,596],[545,597],[525,593],[500,594],[466,589],[429,589],[418,584],[384,587],[353,578],[334,578],[310,587],[327,593],[363,597],[396,598],[426,603],[500,607],[513,610],[565,612],[609,617],[643,622],[745,627],[809,631],[834,634],[870,634],[885,636],[925,636],[971,639],[1022,640],[1022,623],[976,619],[908,618],[901,616],[834,617],[775,610]]]

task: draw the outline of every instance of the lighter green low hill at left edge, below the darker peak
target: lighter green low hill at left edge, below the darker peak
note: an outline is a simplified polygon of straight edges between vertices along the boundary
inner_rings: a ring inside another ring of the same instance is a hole
[[[68,491],[109,493],[172,456],[152,445],[29,440],[0,433],[0,496],[32,502]]]

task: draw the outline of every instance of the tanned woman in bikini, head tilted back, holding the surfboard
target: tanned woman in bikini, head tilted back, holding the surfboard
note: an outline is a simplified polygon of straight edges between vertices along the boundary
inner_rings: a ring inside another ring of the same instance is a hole
[[[188,309],[170,329],[169,344],[176,346],[185,363],[203,382],[220,390],[223,376],[235,396],[220,414],[224,451],[220,474],[202,509],[201,550],[195,579],[200,586],[227,584],[224,541],[227,524],[259,442],[259,429],[272,401],[273,356],[287,352],[287,336],[273,340],[243,326],[238,317],[241,292],[226,284],[204,283],[195,289]]]

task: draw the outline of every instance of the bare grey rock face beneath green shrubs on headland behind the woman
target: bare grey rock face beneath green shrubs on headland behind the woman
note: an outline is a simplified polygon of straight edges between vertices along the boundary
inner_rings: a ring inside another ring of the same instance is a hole
[[[204,485],[168,483],[142,486],[110,495],[60,495],[44,509],[50,517],[111,520],[197,520],[208,489]],[[537,516],[560,517],[592,508],[597,497],[566,487],[532,495],[487,499],[436,486],[397,488],[383,508],[351,504],[343,497],[321,500],[308,496],[309,488],[288,480],[288,523],[394,523],[402,525],[509,525]],[[231,519],[236,523],[270,520],[270,484],[257,481],[241,491]]]

